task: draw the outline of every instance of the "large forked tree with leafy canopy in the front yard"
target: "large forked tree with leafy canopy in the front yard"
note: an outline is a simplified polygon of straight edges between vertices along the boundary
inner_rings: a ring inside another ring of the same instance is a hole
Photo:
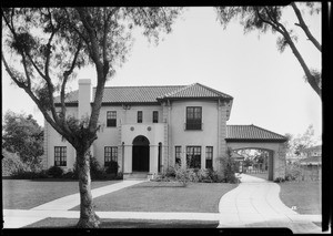
[[[160,32],[171,31],[179,12],[179,8],[157,7],[1,9],[4,45],[1,59],[6,71],[77,151],[81,196],[78,227],[100,224],[92,204],[89,148],[98,138],[107,79],[125,61],[135,25],[158,42]],[[88,64],[95,69],[95,95],[91,113],[77,119],[67,115],[67,84],[75,78],[78,69]],[[60,109],[56,109],[56,95],[60,95]]]

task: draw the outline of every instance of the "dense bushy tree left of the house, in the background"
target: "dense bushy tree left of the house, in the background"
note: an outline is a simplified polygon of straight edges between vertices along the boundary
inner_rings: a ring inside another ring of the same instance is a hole
[[[31,114],[8,111],[2,126],[2,147],[17,153],[23,163],[34,166],[43,154],[43,129]]]

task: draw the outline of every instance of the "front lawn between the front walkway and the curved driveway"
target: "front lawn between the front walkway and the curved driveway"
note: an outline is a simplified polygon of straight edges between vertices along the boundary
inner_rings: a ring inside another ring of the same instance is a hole
[[[94,198],[97,212],[218,213],[220,198],[238,184],[145,182]],[[79,206],[72,208],[79,211]]]

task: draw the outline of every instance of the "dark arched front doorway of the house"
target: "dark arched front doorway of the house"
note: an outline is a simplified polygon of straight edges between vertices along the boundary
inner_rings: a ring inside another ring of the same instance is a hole
[[[132,172],[149,172],[149,140],[143,135],[133,140]]]

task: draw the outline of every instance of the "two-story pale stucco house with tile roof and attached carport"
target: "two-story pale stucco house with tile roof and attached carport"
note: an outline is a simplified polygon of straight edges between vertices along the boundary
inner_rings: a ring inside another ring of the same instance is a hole
[[[90,80],[79,80],[79,90],[65,99],[68,115],[90,114],[94,92]],[[135,172],[152,177],[175,163],[220,171],[219,157],[228,147],[260,147],[272,151],[270,179],[284,176],[286,138],[255,125],[226,125],[232,102],[200,83],[105,88],[91,153],[102,166],[117,161],[127,178]],[[74,148],[47,122],[44,145],[46,167],[73,167]]]

